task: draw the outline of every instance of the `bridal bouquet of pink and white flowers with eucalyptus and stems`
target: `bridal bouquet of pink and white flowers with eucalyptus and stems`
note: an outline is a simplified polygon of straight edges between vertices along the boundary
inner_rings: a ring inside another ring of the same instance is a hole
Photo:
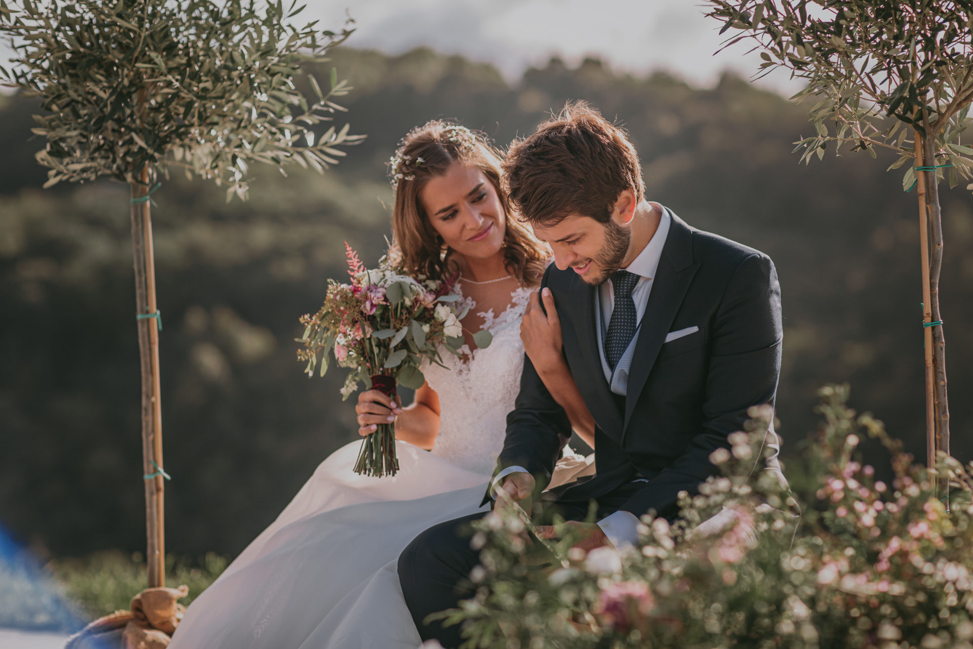
[[[418,388],[425,382],[419,369],[423,359],[443,366],[440,349],[459,356],[463,327],[459,321],[472,306],[454,292],[455,277],[448,280],[411,277],[388,257],[378,269],[366,269],[345,243],[351,282],[328,280],[328,296],[313,316],[305,315],[304,343],[298,358],[307,361],[308,377],[319,369],[324,376],[329,354],[338,365],[348,368],[342,387],[347,399],[358,388],[358,381],[394,397],[401,383]],[[477,346],[489,345],[486,329],[473,335]],[[445,366],[444,366],[445,367]],[[355,473],[375,477],[394,476],[399,469],[395,456],[395,426],[381,424],[362,442]]]

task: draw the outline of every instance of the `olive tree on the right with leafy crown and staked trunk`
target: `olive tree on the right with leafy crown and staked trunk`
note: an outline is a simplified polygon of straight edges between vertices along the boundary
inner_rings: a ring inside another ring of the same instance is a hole
[[[973,2],[969,0],[707,0],[728,45],[756,42],[761,68],[807,82],[815,134],[796,142],[801,160],[833,151],[887,149],[889,169],[909,163],[904,191],[918,188],[926,451],[950,451],[946,339],[940,313],[943,227],[939,180],[973,175],[961,133],[973,100]],[[812,102],[812,103],[811,103]],[[944,170],[947,173],[944,173]],[[973,185],[967,187],[973,189]]]

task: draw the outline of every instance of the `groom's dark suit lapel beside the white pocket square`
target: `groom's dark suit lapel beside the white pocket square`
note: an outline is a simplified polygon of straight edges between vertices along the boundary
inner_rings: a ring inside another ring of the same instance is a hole
[[[700,263],[693,263],[693,231],[675,214],[663,247],[659,269],[652,280],[649,302],[642,316],[642,326],[635,343],[635,355],[631,360],[628,396],[625,400],[625,423],[628,429],[631,414],[635,410],[638,396],[645,387],[659,350],[666,342],[666,336],[675,315],[682,305]],[[624,435],[624,432],[623,432]]]

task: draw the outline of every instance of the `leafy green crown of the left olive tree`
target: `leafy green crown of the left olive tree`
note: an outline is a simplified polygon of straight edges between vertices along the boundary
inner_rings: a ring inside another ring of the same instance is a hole
[[[51,168],[46,187],[101,175],[150,181],[169,167],[246,197],[252,162],[297,163],[323,171],[353,144],[348,126],[318,136],[347,93],[332,69],[325,92],[297,90],[302,65],[350,34],[292,26],[303,7],[282,0],[258,10],[230,0],[100,0],[33,3],[0,0],[0,33],[18,53],[0,68],[8,85],[41,99],[34,133],[47,139],[37,161]],[[298,148],[301,141],[305,147]]]

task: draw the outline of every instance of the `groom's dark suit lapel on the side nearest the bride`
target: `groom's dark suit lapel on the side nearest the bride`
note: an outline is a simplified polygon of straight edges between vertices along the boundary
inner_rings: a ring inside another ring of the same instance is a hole
[[[573,270],[572,270],[573,272]],[[577,305],[573,313],[573,320],[577,327],[578,341],[581,347],[581,355],[584,360],[585,374],[576,379],[578,387],[583,394],[591,395],[586,399],[595,422],[605,434],[616,442],[622,440],[622,415],[615,407],[614,397],[608,381],[604,379],[601,371],[601,356],[598,350],[597,335],[595,334],[595,291],[596,286],[589,286],[575,276],[572,277],[575,284],[571,287],[572,293],[584,296],[582,300],[574,302]]]

